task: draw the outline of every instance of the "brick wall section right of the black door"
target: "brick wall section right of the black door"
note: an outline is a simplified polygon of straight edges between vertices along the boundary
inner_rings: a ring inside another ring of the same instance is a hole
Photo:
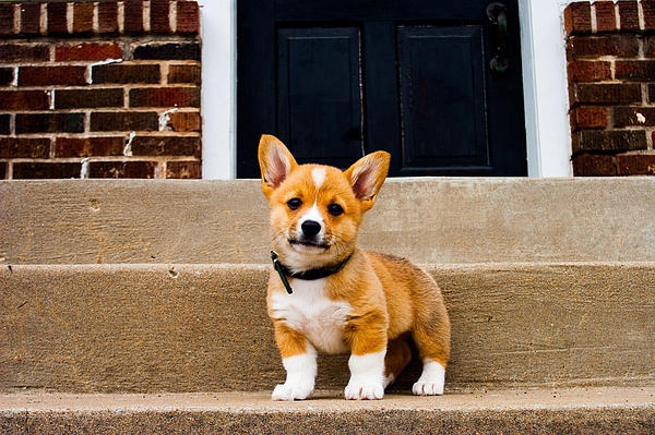
[[[564,11],[575,176],[655,174],[655,0]]]

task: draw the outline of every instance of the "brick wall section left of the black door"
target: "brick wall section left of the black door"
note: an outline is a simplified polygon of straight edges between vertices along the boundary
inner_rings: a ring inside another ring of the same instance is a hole
[[[0,2],[0,179],[200,178],[194,1]]]

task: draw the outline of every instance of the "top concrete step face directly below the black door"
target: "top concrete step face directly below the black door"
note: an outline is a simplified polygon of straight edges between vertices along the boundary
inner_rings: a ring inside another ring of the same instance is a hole
[[[366,247],[417,263],[655,261],[655,179],[391,179]],[[0,181],[0,264],[266,263],[258,180]]]

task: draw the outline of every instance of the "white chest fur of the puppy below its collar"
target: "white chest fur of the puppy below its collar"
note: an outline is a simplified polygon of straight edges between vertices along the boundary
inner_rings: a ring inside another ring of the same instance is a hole
[[[324,285],[325,279],[294,279],[294,293],[274,294],[271,307],[275,318],[285,319],[290,328],[305,334],[321,352],[344,353],[349,350],[343,331],[350,305],[327,299]]]

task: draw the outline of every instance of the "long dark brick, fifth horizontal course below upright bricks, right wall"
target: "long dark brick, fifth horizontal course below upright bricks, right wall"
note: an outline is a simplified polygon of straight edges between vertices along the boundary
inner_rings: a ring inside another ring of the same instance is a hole
[[[583,130],[573,134],[573,154],[581,152],[627,152],[646,149],[643,130]]]

